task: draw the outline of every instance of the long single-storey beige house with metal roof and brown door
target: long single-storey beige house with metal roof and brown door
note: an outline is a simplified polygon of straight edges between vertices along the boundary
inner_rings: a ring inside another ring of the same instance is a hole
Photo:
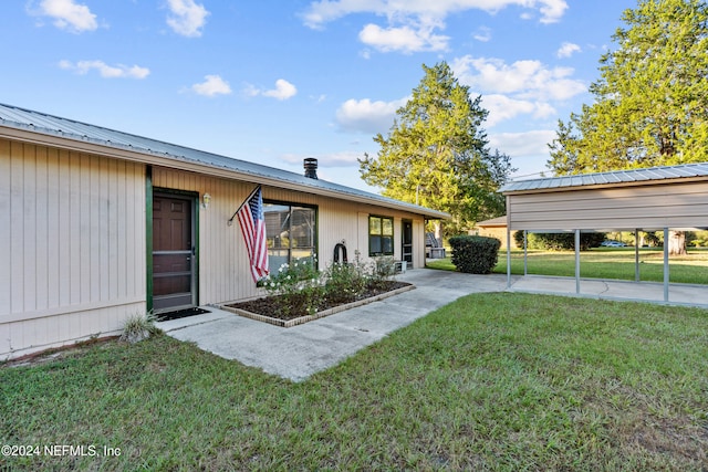
[[[129,315],[261,294],[237,208],[261,186],[271,268],[342,244],[425,264],[445,212],[306,174],[0,105],[0,359],[119,333]]]

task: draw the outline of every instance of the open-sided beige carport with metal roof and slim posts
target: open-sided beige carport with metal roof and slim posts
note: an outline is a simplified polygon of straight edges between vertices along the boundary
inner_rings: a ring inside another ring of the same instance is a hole
[[[509,248],[513,231],[521,230],[524,234],[573,232],[575,293],[582,294],[582,232],[663,231],[666,242],[671,230],[708,227],[708,162],[520,180],[506,185],[500,192],[507,198],[508,289],[511,287]],[[635,281],[639,282],[636,245],[635,261]],[[670,302],[669,285],[669,252],[665,243],[665,303]]]

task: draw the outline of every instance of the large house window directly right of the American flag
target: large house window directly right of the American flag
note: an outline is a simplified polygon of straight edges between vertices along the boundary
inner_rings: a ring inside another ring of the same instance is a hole
[[[268,265],[271,273],[282,264],[315,254],[316,209],[288,203],[263,203]]]

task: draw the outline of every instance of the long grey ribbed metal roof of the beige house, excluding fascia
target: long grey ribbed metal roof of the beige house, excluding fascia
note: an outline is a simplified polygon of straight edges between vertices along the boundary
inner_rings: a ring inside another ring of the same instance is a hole
[[[91,143],[114,149],[157,156],[173,161],[191,162],[212,169],[244,174],[252,176],[256,180],[258,180],[258,178],[275,179],[282,182],[294,183],[300,191],[316,195],[335,193],[343,199],[347,197],[356,198],[365,200],[371,204],[393,207],[426,217],[449,218],[449,214],[444,211],[431,210],[326,180],[312,179],[304,177],[304,175],[274,167],[220,156],[12,105],[0,104],[0,127],[2,126],[75,141]]]

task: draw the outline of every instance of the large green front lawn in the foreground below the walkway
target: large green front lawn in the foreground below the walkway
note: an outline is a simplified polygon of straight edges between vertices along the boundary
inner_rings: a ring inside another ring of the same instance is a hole
[[[382,314],[385,316],[385,314]],[[167,336],[0,367],[0,470],[705,470],[708,313],[462,297],[293,384]]]

